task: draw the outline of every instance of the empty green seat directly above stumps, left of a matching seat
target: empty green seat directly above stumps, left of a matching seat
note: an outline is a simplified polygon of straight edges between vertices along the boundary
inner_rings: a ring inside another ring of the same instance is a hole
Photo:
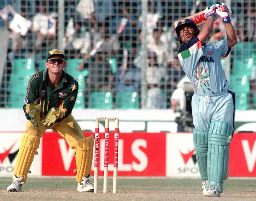
[[[112,109],[113,94],[111,92],[92,92],[89,107],[97,109]]]

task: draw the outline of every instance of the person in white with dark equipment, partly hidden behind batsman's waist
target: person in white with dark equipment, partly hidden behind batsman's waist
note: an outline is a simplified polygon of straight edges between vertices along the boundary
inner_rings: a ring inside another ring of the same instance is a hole
[[[175,119],[178,124],[177,132],[192,132],[193,119],[191,111],[191,99],[194,94],[192,85],[187,76],[184,76],[177,85],[171,97],[171,108],[173,112],[180,113]]]

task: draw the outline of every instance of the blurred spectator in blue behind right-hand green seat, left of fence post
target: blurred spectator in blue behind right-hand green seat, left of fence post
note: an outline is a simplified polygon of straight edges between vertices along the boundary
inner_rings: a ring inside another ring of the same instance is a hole
[[[139,92],[141,82],[141,71],[134,64],[133,60],[136,53],[129,54],[128,51],[124,51],[124,62],[118,68],[116,80],[118,92]]]

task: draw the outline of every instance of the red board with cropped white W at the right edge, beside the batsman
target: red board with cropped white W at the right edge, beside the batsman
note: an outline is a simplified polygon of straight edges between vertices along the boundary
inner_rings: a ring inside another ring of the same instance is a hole
[[[230,144],[230,176],[256,176],[256,133],[234,134]]]

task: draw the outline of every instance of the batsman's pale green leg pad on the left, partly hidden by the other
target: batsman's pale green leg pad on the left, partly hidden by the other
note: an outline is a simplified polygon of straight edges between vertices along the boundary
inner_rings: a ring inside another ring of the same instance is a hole
[[[207,180],[207,151],[208,151],[208,131],[199,132],[193,129],[193,141],[196,152],[196,160],[201,176],[201,180]]]

